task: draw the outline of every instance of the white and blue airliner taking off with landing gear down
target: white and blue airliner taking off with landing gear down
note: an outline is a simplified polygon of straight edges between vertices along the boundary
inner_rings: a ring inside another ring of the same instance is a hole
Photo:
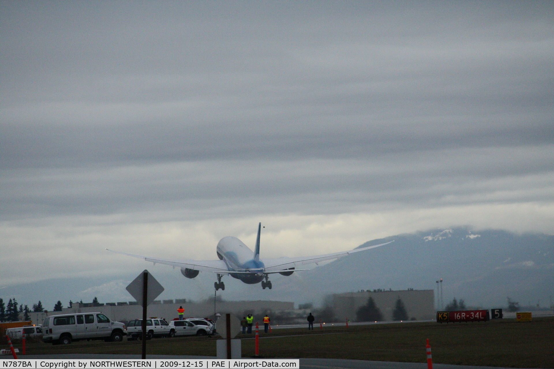
[[[356,248],[355,250],[334,252],[324,255],[316,256],[302,256],[302,257],[280,257],[277,259],[260,259],[260,233],[261,223],[258,224],[258,236],[256,238],[256,246],[254,252],[250,250],[244,242],[240,241],[237,237],[227,236],[223,237],[217,244],[217,256],[219,260],[166,260],[160,258],[153,258],[135,254],[129,254],[126,252],[106,250],[132,256],[145,261],[167,264],[181,268],[181,273],[187,278],[195,278],[200,271],[213,272],[217,274],[217,282],[214,282],[214,288],[217,290],[225,290],[225,284],[221,281],[225,274],[240,279],[247,284],[257,284],[261,282],[261,288],[271,289],[271,281],[269,280],[269,274],[279,273],[283,276],[290,276],[297,271],[307,271],[309,269],[296,269],[297,266],[304,264],[318,264],[319,262],[338,259],[343,256],[347,256],[351,253],[370,250],[370,248],[376,248],[379,246],[387,245],[393,241],[381,243],[380,245],[368,246],[362,248]]]

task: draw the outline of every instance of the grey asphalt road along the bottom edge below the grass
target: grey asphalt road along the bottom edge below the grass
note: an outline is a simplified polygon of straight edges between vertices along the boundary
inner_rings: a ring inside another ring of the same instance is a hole
[[[0,358],[11,358],[4,356]],[[66,354],[66,355],[25,355],[19,356],[29,359],[140,359],[141,355],[102,355],[102,354]],[[214,359],[214,356],[177,356],[177,355],[147,355],[147,359]],[[248,359],[248,358],[245,358]],[[427,363],[422,362],[389,362],[389,361],[365,361],[365,360],[345,360],[335,358],[301,358],[300,368],[321,368],[321,369],[425,369]],[[490,366],[467,366],[435,364],[435,369],[492,369]],[[508,369],[508,368],[495,368]],[[510,368],[517,369],[517,368]]]

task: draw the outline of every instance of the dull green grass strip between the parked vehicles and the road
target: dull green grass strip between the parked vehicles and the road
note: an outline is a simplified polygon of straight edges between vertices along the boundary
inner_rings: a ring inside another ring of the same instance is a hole
[[[530,322],[506,319],[486,323],[391,323],[357,325],[348,329],[344,326],[326,326],[323,330],[293,328],[260,334],[260,337],[271,336],[280,338],[260,340],[261,356],[423,363],[426,360],[425,339],[428,338],[434,363],[554,368],[554,318],[536,318]],[[247,337],[253,335],[237,336]],[[140,355],[141,341],[79,341],[65,346],[35,341],[28,342],[27,352],[29,355]],[[243,357],[254,356],[254,340],[242,341],[242,353]],[[147,342],[147,354],[216,356],[216,339],[152,339]]]

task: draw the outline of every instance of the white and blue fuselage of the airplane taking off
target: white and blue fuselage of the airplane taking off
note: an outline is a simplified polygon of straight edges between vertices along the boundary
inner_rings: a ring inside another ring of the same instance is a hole
[[[233,278],[247,284],[260,283],[264,279],[264,263],[256,260],[254,252],[237,237],[223,237],[217,244],[217,257],[223,260],[229,271],[250,273],[229,273]]]

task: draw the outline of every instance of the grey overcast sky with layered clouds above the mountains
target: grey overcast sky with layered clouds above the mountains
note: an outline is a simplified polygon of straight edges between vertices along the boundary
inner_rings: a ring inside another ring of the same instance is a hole
[[[0,287],[260,221],[263,257],[552,234],[551,1],[1,1],[0,30]]]

